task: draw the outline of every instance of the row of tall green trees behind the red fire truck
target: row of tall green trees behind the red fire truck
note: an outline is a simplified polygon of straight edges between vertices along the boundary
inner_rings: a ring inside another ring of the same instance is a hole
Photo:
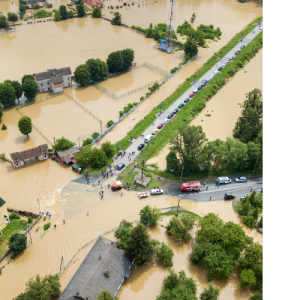
[[[170,140],[170,152],[166,157],[167,170],[180,176],[211,171],[244,172],[262,168],[262,96],[254,89],[240,104],[242,116],[235,126],[235,137],[208,142],[201,126],[180,127],[179,133]],[[259,164],[257,162],[259,161]]]

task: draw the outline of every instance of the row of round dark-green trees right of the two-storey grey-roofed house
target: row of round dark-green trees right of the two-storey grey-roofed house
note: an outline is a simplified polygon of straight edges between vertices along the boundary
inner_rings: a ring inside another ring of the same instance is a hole
[[[108,76],[108,73],[121,72],[131,67],[134,60],[134,51],[130,48],[118,50],[108,55],[106,62],[89,59],[85,64],[76,67],[75,82],[87,85],[91,81],[99,81]]]

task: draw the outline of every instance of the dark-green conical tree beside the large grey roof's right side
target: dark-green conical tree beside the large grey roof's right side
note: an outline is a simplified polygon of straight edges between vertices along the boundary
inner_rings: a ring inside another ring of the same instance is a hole
[[[135,257],[135,263],[142,266],[150,260],[154,251],[146,227],[139,223],[135,226],[127,241],[126,254]]]

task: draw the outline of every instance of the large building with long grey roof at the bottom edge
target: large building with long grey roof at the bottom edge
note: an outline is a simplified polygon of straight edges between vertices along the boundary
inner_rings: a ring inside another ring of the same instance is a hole
[[[100,236],[58,300],[95,300],[104,290],[116,296],[132,263],[116,243]]]

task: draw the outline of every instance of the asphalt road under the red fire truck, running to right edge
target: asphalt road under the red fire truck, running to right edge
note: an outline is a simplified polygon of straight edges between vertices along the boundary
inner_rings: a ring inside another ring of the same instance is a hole
[[[201,182],[201,181],[200,181]],[[206,190],[206,186],[208,189]],[[182,192],[180,186],[178,188],[171,188],[164,190],[165,194],[173,195],[174,197],[182,199],[191,199],[198,202],[208,202],[210,197],[211,201],[224,200],[225,193],[234,193],[237,198],[250,194],[251,189],[255,190],[256,193],[260,193],[263,186],[262,177],[253,180],[248,180],[245,183],[232,182],[229,184],[220,185],[217,187],[215,184],[207,184],[201,189],[201,192]],[[231,201],[231,200],[226,200]]]

